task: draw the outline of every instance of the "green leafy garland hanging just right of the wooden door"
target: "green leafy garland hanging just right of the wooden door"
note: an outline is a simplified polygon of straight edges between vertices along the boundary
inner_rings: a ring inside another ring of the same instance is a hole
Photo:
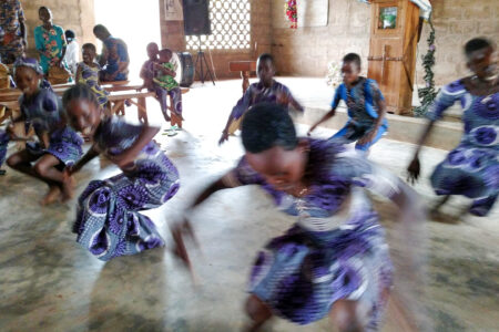
[[[414,113],[416,116],[425,116],[426,112],[428,112],[429,106],[434,103],[435,97],[437,96],[438,91],[435,91],[435,80],[434,80],[434,71],[432,68],[435,65],[435,28],[431,22],[431,18],[428,19],[428,23],[430,27],[430,33],[428,39],[428,52],[422,55],[422,68],[425,69],[425,87],[418,90],[419,101],[421,105],[414,108]]]

